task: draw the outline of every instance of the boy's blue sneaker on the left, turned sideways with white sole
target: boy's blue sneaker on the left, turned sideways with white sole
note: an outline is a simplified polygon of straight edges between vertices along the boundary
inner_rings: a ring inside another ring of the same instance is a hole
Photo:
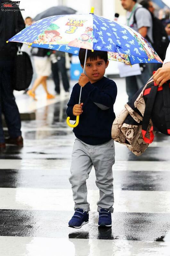
[[[88,222],[89,214],[83,211],[83,209],[77,208],[68,224],[71,228],[81,228],[82,225],[87,224]]]

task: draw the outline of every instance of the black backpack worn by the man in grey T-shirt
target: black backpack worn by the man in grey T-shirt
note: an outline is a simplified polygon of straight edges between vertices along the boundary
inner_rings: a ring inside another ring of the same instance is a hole
[[[139,8],[144,8],[144,7],[139,7]],[[135,15],[137,15],[136,12],[139,8],[137,8],[134,12],[133,24],[136,23]],[[168,48],[168,45],[169,45],[169,39],[166,34],[163,23],[154,15],[151,14],[151,16],[152,16],[152,23],[153,23],[153,29],[152,29],[153,43],[151,42],[148,36],[146,37],[146,39],[153,46],[154,50],[157,52],[159,57],[164,61],[166,56],[166,49]]]

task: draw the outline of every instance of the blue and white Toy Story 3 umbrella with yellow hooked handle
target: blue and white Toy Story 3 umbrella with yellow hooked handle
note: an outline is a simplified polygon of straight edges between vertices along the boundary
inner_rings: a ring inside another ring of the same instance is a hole
[[[9,41],[25,43],[32,47],[60,50],[79,54],[80,48],[108,52],[108,59],[127,65],[136,63],[161,63],[154,49],[132,28],[97,16],[94,7],[90,14],[57,15],[33,23]],[[8,42],[8,41],[7,41]],[[86,58],[85,58],[86,63]],[[85,69],[85,65],[84,65]],[[85,70],[83,70],[84,73]],[[81,100],[81,92],[80,99]],[[79,123],[79,115],[75,124]]]

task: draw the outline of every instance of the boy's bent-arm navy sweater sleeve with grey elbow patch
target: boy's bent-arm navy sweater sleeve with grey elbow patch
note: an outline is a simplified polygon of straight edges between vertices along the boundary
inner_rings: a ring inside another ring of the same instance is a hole
[[[106,110],[113,106],[117,96],[117,87],[114,81],[110,81],[100,91],[98,87],[88,82],[84,89],[88,93],[89,98],[102,110]]]

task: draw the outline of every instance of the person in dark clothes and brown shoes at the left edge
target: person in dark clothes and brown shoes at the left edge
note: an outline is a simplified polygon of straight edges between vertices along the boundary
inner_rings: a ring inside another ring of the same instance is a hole
[[[12,1],[11,4],[13,3]],[[21,136],[21,119],[13,96],[13,69],[17,54],[17,43],[6,43],[16,32],[24,29],[24,20],[18,7],[11,7],[17,11],[5,11],[3,7],[0,15],[0,149],[5,148],[5,142],[23,145]],[[9,138],[5,140],[2,113],[8,127]]]

